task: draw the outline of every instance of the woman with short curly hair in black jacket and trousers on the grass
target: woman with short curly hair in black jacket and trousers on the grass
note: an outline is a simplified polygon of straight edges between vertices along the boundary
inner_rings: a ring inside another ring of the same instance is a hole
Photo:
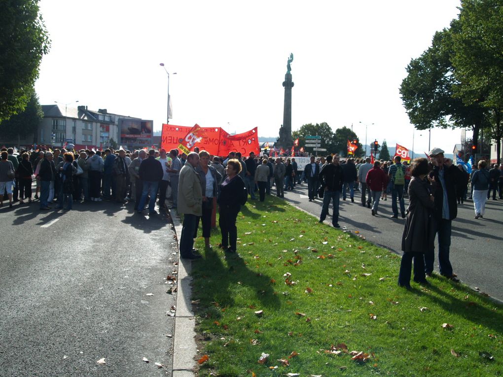
[[[240,171],[241,164],[237,159],[231,159],[227,162],[227,177],[220,185],[218,198],[220,208],[218,225],[222,233],[222,242],[219,246],[230,252],[236,252],[237,249],[236,218],[241,208],[241,198],[244,192],[244,182],[238,175]]]

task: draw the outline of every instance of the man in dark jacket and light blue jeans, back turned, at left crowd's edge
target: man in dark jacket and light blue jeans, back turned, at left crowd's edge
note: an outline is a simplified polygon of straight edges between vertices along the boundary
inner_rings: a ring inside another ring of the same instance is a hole
[[[161,163],[155,159],[154,149],[150,149],[148,151],[148,158],[141,161],[138,174],[143,182],[143,191],[141,193],[140,203],[138,203],[138,209],[136,212],[143,212],[147,195],[149,195],[150,202],[148,203],[148,213],[150,215],[155,215],[157,214],[157,212],[155,212],[157,189],[159,187],[159,180],[162,179],[164,173],[162,172]]]

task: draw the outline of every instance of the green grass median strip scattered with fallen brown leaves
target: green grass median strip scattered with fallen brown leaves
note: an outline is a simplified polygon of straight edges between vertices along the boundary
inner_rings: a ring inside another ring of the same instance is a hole
[[[213,250],[196,242],[192,299],[209,356],[200,376],[503,375],[502,307],[468,287],[436,275],[428,288],[399,288],[398,255],[275,197],[249,202],[237,228],[238,255],[216,247],[217,230]],[[369,359],[325,352],[340,343]]]

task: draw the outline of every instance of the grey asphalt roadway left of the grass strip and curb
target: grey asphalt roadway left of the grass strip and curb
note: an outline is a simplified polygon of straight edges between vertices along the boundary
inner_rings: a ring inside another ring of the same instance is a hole
[[[172,226],[132,204],[73,208],[0,209],[0,376],[171,375]]]

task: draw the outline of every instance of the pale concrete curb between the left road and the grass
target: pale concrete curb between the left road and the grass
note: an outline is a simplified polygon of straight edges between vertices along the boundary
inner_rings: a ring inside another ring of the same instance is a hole
[[[175,339],[173,347],[173,377],[194,377],[194,356],[197,354],[194,331],[195,321],[192,312],[192,261],[180,258],[179,237],[182,234],[182,224],[176,210],[170,210],[170,215],[177,234],[178,247],[178,279],[177,279],[177,314],[175,316]]]

